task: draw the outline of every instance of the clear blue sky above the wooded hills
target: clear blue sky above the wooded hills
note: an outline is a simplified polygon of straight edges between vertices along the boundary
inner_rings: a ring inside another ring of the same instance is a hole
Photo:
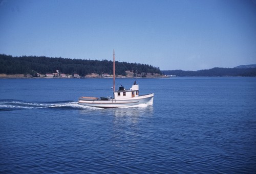
[[[256,0],[0,0],[0,54],[143,63],[256,63]]]

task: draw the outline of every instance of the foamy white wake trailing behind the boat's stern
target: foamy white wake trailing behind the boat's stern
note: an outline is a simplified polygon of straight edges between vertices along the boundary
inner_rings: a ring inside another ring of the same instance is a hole
[[[79,105],[74,101],[60,102],[26,102],[18,100],[0,100],[0,111],[22,110],[22,109],[91,109],[92,107]]]

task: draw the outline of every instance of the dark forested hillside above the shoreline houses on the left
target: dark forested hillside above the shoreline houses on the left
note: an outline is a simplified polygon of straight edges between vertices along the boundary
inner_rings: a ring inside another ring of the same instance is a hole
[[[159,67],[140,63],[116,62],[116,75],[125,76],[126,70],[140,74],[161,73]],[[82,60],[67,58],[49,58],[36,56],[13,57],[0,54],[0,73],[6,74],[46,74],[56,70],[62,73],[78,73],[85,76],[90,73],[113,74],[113,61],[109,60]]]

